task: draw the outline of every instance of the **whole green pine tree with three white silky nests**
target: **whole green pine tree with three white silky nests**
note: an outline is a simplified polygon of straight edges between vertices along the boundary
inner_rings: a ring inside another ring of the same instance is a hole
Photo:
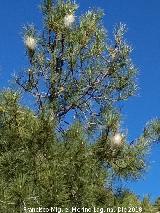
[[[139,204],[134,195],[117,195],[114,181],[143,174],[160,122],[131,143],[122,130],[118,104],[137,88],[125,25],[109,42],[100,10],[78,17],[70,0],[45,0],[41,9],[42,31],[24,28],[28,66],[15,78],[20,91],[1,93],[0,210]],[[22,105],[22,91],[35,98],[34,108]]]

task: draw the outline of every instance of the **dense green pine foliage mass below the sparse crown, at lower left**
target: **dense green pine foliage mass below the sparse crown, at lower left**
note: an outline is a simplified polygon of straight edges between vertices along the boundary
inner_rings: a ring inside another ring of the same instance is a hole
[[[58,141],[52,123],[22,109],[17,99],[11,92],[2,96],[0,197],[4,208],[11,205],[20,212],[24,206],[101,204],[106,173],[80,124]]]

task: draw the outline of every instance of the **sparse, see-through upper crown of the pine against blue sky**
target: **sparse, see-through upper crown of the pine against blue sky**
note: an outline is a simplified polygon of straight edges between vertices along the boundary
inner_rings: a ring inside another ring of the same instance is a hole
[[[91,10],[78,18],[77,8],[72,1],[44,1],[44,30],[37,34],[33,26],[26,26],[25,36],[31,34],[37,46],[34,54],[28,53],[26,75],[16,82],[38,100],[39,113],[47,104],[60,125],[69,113],[88,127],[91,120],[105,125],[99,115],[135,94],[132,49],[124,40],[125,25],[116,26],[111,43],[103,12]],[[74,22],[69,27],[68,15]],[[98,125],[95,128],[98,131]]]

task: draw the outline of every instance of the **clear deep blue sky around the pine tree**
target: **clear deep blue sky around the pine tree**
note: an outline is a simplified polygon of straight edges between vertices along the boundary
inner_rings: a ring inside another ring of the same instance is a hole
[[[125,126],[129,137],[137,137],[145,123],[160,116],[160,1],[151,0],[79,0],[82,11],[100,7],[104,24],[110,31],[116,23],[128,26],[127,40],[134,48],[133,60],[139,69],[138,96],[124,105]],[[5,0],[0,7],[0,87],[7,86],[13,72],[25,63],[21,38],[26,23],[41,25],[40,0]],[[128,184],[141,196],[160,196],[160,144],[153,147],[151,164],[145,178]]]

